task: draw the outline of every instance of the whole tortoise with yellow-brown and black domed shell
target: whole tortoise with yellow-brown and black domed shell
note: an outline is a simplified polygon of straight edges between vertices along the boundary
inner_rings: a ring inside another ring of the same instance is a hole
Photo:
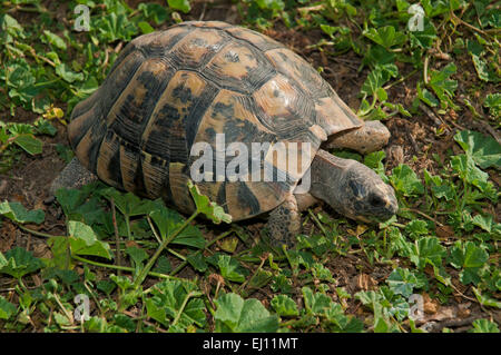
[[[214,148],[222,135],[227,147],[267,142],[253,157],[261,158],[258,174],[268,168],[275,178],[252,179],[242,170],[237,179],[213,175],[196,185],[234,221],[267,214],[274,243],[291,244],[301,211],[318,200],[364,223],[397,210],[393,188],[373,170],[322,149],[379,150],[390,138],[386,127],[360,119],[292,50],[220,21],[181,22],[130,41],[104,83],[72,110],[68,136],[76,157],[51,190],[99,178],[189,214],[191,150],[198,142]],[[292,171],[276,152],[271,157],[279,142],[308,144],[297,152],[305,169]],[[250,160],[243,155],[240,161]],[[227,165],[228,156],[216,150],[210,161]],[[199,172],[210,176],[209,168]],[[310,189],[299,194],[306,174]]]

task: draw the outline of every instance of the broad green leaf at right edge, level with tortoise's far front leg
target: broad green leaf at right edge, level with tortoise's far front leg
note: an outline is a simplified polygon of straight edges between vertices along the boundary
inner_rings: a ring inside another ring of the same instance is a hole
[[[501,169],[501,145],[495,139],[477,131],[463,130],[454,135],[454,140],[482,169]]]

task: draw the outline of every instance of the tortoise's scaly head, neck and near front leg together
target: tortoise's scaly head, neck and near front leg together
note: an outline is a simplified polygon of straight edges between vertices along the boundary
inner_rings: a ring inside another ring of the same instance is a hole
[[[312,185],[308,194],[291,195],[269,215],[267,228],[276,244],[291,246],[291,238],[301,231],[298,205],[306,208],[315,199],[363,223],[386,220],[399,208],[393,188],[356,160],[341,159],[320,149],[310,169]]]

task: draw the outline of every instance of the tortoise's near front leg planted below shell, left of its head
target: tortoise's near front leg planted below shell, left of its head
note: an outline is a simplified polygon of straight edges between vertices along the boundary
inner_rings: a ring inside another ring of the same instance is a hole
[[[301,213],[294,195],[291,194],[282,205],[271,211],[266,227],[274,246],[294,245],[294,237],[301,231]]]

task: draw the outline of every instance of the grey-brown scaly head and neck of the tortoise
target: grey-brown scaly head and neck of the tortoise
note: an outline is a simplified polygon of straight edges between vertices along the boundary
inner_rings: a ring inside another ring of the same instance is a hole
[[[312,162],[311,194],[314,197],[340,214],[364,223],[383,221],[396,213],[395,191],[372,169],[330,154],[317,157]]]

